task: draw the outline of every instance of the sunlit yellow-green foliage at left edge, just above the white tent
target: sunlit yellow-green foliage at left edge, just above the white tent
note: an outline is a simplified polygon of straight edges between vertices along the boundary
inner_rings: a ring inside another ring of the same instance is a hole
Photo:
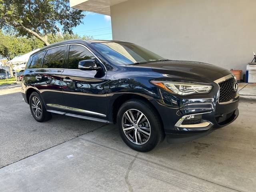
[[[26,54],[44,46],[44,43],[35,37],[17,37],[3,34],[0,31],[0,57],[11,60],[16,56]]]

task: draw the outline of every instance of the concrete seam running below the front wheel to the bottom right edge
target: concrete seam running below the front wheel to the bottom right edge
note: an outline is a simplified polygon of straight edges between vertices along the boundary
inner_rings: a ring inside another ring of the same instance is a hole
[[[81,140],[84,140],[84,141],[87,141],[87,142],[91,142],[91,143],[97,144],[97,145],[99,145],[99,146],[103,146],[103,147],[106,147],[106,148],[115,150],[115,151],[117,151],[117,152],[120,152],[120,153],[129,155],[129,156],[132,156],[132,157],[135,157],[135,158],[138,158],[138,159],[141,159],[141,160],[144,160],[144,161],[147,161],[147,162],[156,164],[156,165],[158,165],[158,166],[162,166],[162,167],[164,167],[164,168],[168,168],[168,169],[170,169],[170,170],[174,170],[174,171],[176,171],[176,172],[180,172],[180,173],[183,173],[183,174],[192,176],[192,177],[194,177],[194,178],[198,178],[198,179],[203,180],[203,181],[205,181],[205,182],[210,182],[210,183],[212,183],[212,184],[216,184],[216,185],[222,186],[222,187],[224,187],[224,188],[228,188],[228,189],[231,189],[231,190],[234,190],[234,191],[237,191],[237,192],[242,192],[242,191],[240,191],[240,190],[236,190],[236,189],[234,189],[234,188],[230,188],[230,187],[228,187],[228,186],[224,186],[224,185],[221,185],[221,184],[212,182],[212,181],[210,181],[210,180],[206,180],[206,179],[200,178],[200,177],[198,177],[198,176],[194,176],[194,175],[192,175],[192,174],[189,174],[189,173],[186,173],[186,172],[182,172],[182,171],[180,171],[180,170],[176,170],[176,169],[174,169],[174,168],[170,168],[170,167],[168,167],[168,166],[164,166],[164,165],[158,164],[158,163],[156,163],[156,162],[152,162],[152,161],[150,161],[150,160],[146,160],[146,159],[141,158],[141,157],[138,157],[138,156],[136,157],[136,155],[134,156],[134,155],[132,155],[132,154],[128,154],[128,153],[122,152],[122,151],[120,151],[120,150],[117,150],[117,149],[114,149],[114,148],[111,148],[111,147],[108,147],[108,146],[104,146],[104,145],[102,145],[102,144],[98,144],[98,143],[93,142],[93,141],[90,141],[90,140],[86,140],[86,139],[84,139],[84,138],[79,138],[79,137],[78,137],[78,139],[81,139]]]

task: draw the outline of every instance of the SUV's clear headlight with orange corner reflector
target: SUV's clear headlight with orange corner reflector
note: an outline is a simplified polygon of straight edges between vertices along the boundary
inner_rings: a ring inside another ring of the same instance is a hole
[[[212,89],[209,84],[176,82],[176,81],[151,81],[152,84],[177,95],[192,95],[208,93]]]

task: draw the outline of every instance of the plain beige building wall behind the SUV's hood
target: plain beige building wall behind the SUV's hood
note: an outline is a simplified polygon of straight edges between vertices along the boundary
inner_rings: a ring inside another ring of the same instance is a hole
[[[128,0],[110,7],[113,39],[245,72],[256,52],[254,8],[256,0]]]

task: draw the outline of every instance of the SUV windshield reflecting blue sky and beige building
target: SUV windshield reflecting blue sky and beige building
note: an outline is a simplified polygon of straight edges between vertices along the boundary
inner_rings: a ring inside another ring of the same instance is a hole
[[[113,64],[129,65],[164,60],[161,56],[132,43],[102,42],[92,43]]]

